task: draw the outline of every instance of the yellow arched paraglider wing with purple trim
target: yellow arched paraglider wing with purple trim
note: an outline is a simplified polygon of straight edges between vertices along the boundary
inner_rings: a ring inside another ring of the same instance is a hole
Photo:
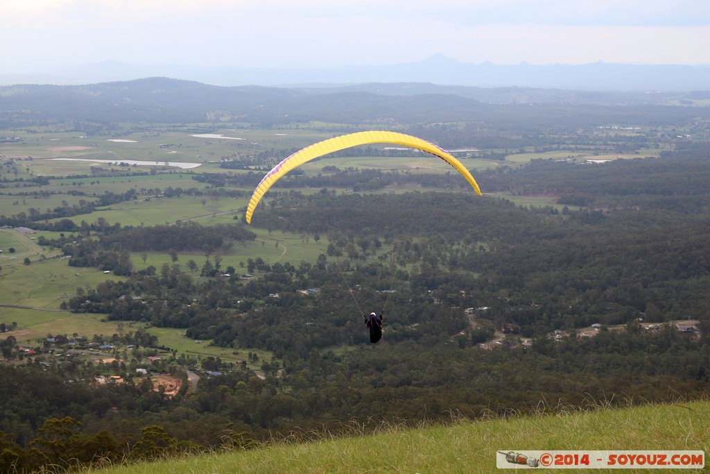
[[[293,168],[311,161],[319,156],[326,155],[327,153],[332,153],[334,151],[344,150],[346,148],[351,148],[352,146],[374,144],[374,143],[387,143],[387,144],[397,144],[408,146],[413,149],[426,151],[434,156],[442,158],[442,160],[453,166],[456,171],[461,173],[461,175],[466,178],[472,188],[476,191],[476,194],[481,195],[481,189],[478,183],[471,176],[469,170],[461,164],[457,158],[454,158],[451,153],[439,148],[435,144],[428,141],[418,139],[416,136],[400,134],[395,131],[359,131],[354,134],[347,134],[342,136],[337,136],[332,139],[327,139],[324,141],[319,141],[317,144],[307,146],[305,149],[299,150],[293,155],[288,156],[285,160],[278,163],[274,168],[266,173],[263,177],[261,183],[256,186],[253,194],[251,195],[251,200],[249,200],[249,206],[246,208],[246,222],[251,224],[251,215],[256,209],[259,201],[263,195],[271,188],[271,185],[278,181],[281,176],[284,176]]]

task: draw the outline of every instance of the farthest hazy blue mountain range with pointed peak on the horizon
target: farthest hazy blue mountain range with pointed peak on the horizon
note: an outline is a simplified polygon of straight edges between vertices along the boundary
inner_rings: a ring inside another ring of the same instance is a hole
[[[371,82],[430,82],[473,87],[535,87],[562,90],[676,91],[710,90],[710,65],[496,65],[461,63],[433,55],[415,63],[320,69],[249,67],[201,68],[190,65],[136,65],[105,61],[41,74],[0,74],[0,85],[79,85],[171,77],[209,85],[322,87]]]

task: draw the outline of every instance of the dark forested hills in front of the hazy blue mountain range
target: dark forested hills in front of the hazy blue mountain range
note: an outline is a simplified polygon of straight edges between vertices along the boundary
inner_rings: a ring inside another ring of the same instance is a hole
[[[93,135],[114,131],[122,123],[141,122],[219,124],[229,120],[263,128],[311,121],[371,126],[470,122],[474,129],[481,125],[497,131],[514,129],[525,136],[562,124],[680,126],[707,119],[710,113],[707,107],[677,106],[684,97],[649,102],[648,95],[640,100],[633,93],[599,97],[601,93],[515,90],[515,100],[499,104],[500,91],[495,90],[476,94],[471,92],[474,88],[436,87],[412,94],[411,89],[411,85],[314,90],[217,87],[165,77],[97,85],[2,86],[0,129],[68,126]]]

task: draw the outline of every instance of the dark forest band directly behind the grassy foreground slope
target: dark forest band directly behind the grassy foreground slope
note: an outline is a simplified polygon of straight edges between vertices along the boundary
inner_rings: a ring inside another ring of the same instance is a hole
[[[532,348],[451,342],[386,339],[339,355],[310,350],[264,362],[264,379],[242,368],[203,377],[197,392],[173,398],[153,391],[149,378],[99,386],[77,379],[90,367],[39,359],[2,365],[0,395],[9,403],[0,419],[0,465],[32,472],[243,449],[281,436],[332,436],[346,431],[346,421],[368,430],[382,421],[417,426],[452,414],[477,419],[541,407],[555,413],[678,401],[703,397],[710,382],[709,338],[671,325],[657,333],[537,338]]]

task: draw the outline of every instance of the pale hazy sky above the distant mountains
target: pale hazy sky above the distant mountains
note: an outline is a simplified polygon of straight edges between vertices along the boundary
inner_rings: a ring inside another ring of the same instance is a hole
[[[706,0],[0,0],[0,74],[103,60],[710,65]]]

